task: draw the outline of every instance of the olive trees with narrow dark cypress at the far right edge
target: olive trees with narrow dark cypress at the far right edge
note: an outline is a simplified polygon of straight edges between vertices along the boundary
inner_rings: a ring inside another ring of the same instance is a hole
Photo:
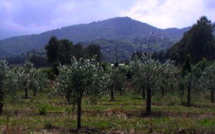
[[[182,90],[182,97],[184,96],[184,89],[187,89],[187,106],[192,105],[192,94],[203,93],[211,90],[211,100],[214,102],[214,78],[215,64],[209,64],[205,59],[196,65],[191,65],[191,58],[187,55],[183,65],[182,77],[179,81]]]

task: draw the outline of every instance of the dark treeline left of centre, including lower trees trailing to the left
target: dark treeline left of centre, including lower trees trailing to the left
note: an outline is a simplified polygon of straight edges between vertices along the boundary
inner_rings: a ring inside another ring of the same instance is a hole
[[[102,60],[100,46],[83,47],[80,43],[75,45],[69,40],[58,40],[56,37],[50,38],[45,50],[32,50],[20,56],[6,58],[6,60],[10,65],[24,64],[25,61],[30,61],[36,68],[49,67],[53,64],[70,64],[73,56],[77,59],[95,58],[98,62]]]

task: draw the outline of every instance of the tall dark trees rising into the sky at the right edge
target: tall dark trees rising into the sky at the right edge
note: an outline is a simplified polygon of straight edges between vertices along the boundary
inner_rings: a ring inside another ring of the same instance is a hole
[[[201,17],[192,28],[184,33],[183,38],[166,51],[155,52],[153,57],[161,62],[174,60],[176,65],[184,63],[186,55],[190,55],[192,64],[202,59],[215,59],[214,27],[207,17]]]

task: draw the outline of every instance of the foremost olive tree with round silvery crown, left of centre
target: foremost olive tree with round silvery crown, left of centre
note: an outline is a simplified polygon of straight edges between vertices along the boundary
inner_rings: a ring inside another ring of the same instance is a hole
[[[59,67],[57,92],[65,95],[70,104],[77,105],[77,129],[81,128],[82,98],[102,93],[105,78],[103,69],[95,60],[73,58],[71,65]]]

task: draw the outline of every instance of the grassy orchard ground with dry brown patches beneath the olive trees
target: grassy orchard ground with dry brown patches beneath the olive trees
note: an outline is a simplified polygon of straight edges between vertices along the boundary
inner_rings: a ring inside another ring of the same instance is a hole
[[[178,97],[153,97],[151,117],[144,115],[146,102],[137,95],[117,95],[116,101],[109,100],[104,95],[91,105],[84,99],[79,133],[215,133],[215,104],[205,98],[186,107]],[[0,116],[1,133],[75,133],[75,128],[72,106],[48,93],[17,104],[6,102]]]

